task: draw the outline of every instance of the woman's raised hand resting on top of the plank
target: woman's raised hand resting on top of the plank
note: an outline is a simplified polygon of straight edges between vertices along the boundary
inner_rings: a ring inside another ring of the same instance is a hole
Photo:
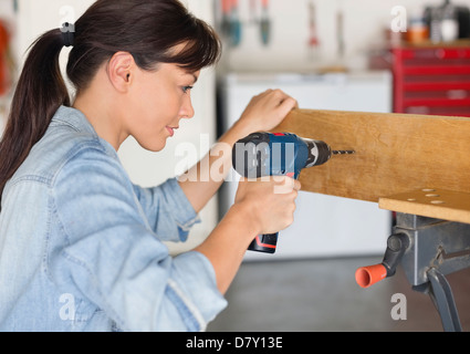
[[[297,102],[281,90],[268,90],[254,96],[236,123],[237,128],[244,134],[239,138],[274,128],[296,107]]]

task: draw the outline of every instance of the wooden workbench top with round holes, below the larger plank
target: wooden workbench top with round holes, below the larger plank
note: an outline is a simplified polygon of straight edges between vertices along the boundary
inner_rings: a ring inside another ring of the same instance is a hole
[[[382,209],[470,223],[470,194],[421,188],[380,198]]]

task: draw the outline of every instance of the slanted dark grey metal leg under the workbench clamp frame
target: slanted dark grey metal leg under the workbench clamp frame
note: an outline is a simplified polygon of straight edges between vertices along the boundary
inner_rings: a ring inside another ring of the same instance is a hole
[[[449,282],[435,268],[431,268],[427,274],[430,282],[429,295],[439,312],[443,330],[446,332],[461,332],[462,327]]]

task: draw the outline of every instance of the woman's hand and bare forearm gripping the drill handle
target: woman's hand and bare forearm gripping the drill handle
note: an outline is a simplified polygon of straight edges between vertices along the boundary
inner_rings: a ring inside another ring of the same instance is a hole
[[[195,249],[211,262],[222,294],[257,235],[274,233],[292,223],[300,188],[299,180],[286,176],[241,178],[233,206]]]

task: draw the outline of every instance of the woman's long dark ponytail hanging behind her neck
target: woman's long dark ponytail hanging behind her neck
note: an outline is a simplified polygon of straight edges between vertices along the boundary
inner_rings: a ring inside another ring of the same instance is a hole
[[[59,64],[63,45],[62,32],[56,29],[40,37],[28,54],[0,142],[0,196],[59,107],[70,106]]]

